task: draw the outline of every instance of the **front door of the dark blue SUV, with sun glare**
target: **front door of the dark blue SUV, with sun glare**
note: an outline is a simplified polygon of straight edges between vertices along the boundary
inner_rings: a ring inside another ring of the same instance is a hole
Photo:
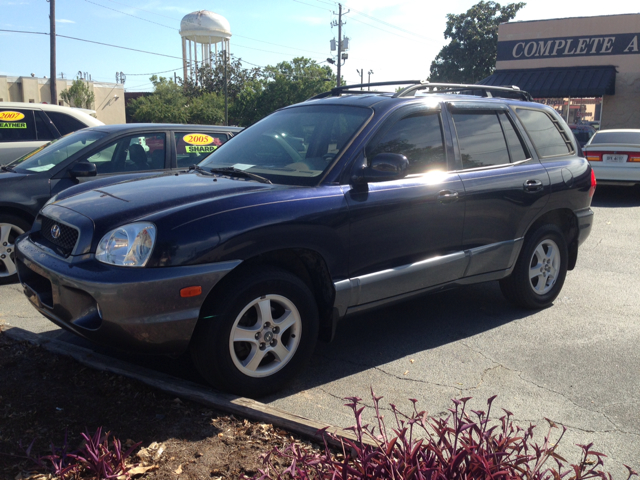
[[[367,143],[359,164],[378,153],[409,159],[409,174],[395,181],[352,186],[350,277],[362,305],[455,280],[461,252],[464,188],[452,170],[449,132],[439,110],[423,105],[396,111]]]

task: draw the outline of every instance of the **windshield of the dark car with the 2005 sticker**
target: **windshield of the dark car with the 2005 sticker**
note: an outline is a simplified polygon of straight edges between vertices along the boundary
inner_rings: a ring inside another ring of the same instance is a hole
[[[12,162],[17,172],[46,172],[107,134],[79,131],[43,145]]]

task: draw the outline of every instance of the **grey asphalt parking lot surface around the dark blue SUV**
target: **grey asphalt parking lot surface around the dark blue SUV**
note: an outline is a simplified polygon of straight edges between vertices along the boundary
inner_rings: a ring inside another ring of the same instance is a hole
[[[549,418],[568,428],[562,453],[594,442],[614,478],[626,478],[623,464],[640,469],[640,189],[599,186],[593,209],[591,236],[552,307],[512,307],[493,282],[353,317],[294,384],[262,401],[349,426],[342,399],[368,400],[370,388],[384,406],[409,411],[415,398],[431,414],[451,398],[483,408],[498,395],[494,406],[539,425],[538,440]],[[81,342],[37,314],[19,285],[0,287],[2,322]],[[126,358],[198,381],[186,359]]]

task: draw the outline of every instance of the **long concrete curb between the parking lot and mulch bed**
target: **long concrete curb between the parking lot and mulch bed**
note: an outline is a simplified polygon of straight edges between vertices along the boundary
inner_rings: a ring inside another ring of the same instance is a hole
[[[225,413],[236,414],[262,423],[270,423],[321,444],[323,442],[323,435],[319,432],[321,429],[326,429],[338,439],[356,441],[356,437],[351,431],[294,415],[250,398],[215,392],[202,385],[98,354],[87,348],[46,338],[18,327],[9,327],[3,333],[13,340],[26,341],[39,345],[52,353],[71,357],[88,367],[135,379],[165,393],[189,399]],[[327,440],[332,444],[340,444],[340,441],[331,441],[329,437]],[[365,443],[374,445],[367,441]]]

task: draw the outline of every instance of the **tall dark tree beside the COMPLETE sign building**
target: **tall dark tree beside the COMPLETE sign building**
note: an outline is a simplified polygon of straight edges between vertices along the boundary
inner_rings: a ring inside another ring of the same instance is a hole
[[[526,4],[504,7],[480,1],[466,13],[447,15],[444,38],[451,39],[431,62],[431,82],[477,83],[495,70],[498,25],[512,20]]]

